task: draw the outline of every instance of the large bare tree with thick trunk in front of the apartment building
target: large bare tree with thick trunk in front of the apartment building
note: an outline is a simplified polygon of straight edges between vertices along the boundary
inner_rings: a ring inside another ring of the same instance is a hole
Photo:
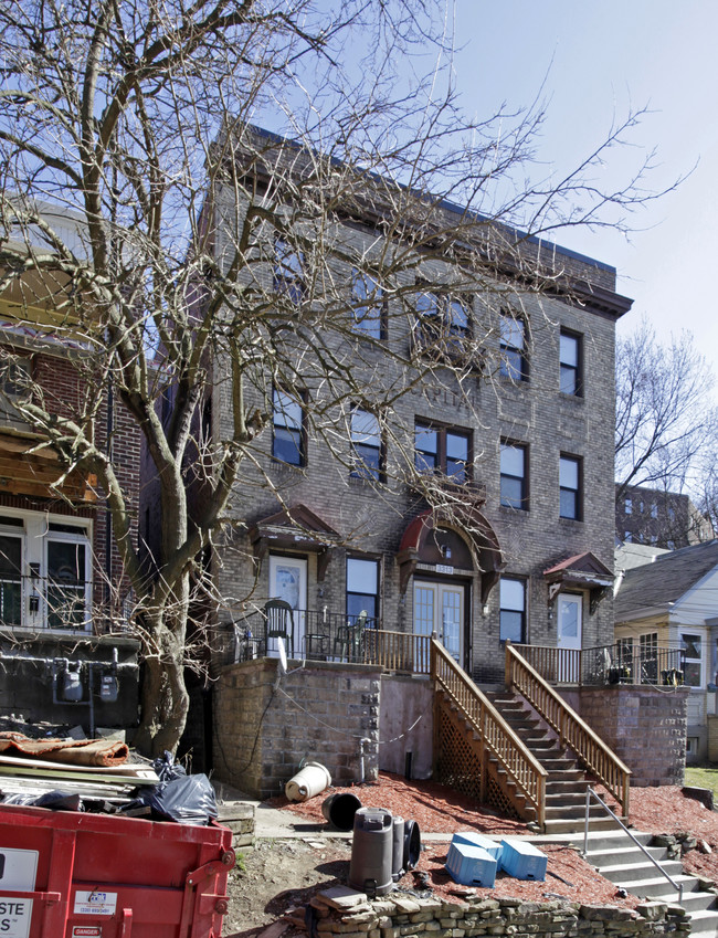
[[[0,287],[21,297],[22,319],[38,281],[47,286],[52,317],[36,341],[71,337],[92,388],[71,413],[36,386],[17,407],[67,473],[97,476],[112,513],[136,598],[147,751],[175,749],[182,733],[192,599],[210,609],[223,599],[198,557],[228,523],[237,476],[267,484],[258,452],[272,388],[287,409],[313,396],[309,431],[347,464],[359,402],[406,454],[382,473],[414,472],[402,399],[427,370],[463,394],[469,376],[498,367],[495,322],[468,328],[447,297],[471,291],[487,310],[520,310],[527,293],[540,305],[570,291],[541,236],[625,228],[646,199],[645,165],[620,191],[593,179],[637,115],[558,183],[530,178],[540,108],[467,122],[443,12],[405,0],[0,8]],[[256,131],[257,119],[286,139]],[[348,230],[361,236],[348,242]],[[408,329],[426,305],[409,350],[389,341],[389,370],[371,355],[373,327],[359,352],[353,328],[384,304]],[[210,389],[222,409],[211,438],[201,419]],[[140,429],[156,476],[149,567],[94,432],[109,393]],[[451,486],[425,488],[460,509]]]

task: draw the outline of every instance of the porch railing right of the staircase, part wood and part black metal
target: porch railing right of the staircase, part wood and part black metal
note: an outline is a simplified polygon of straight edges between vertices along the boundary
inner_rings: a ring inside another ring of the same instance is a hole
[[[680,649],[622,643],[591,649],[514,647],[549,684],[683,684],[685,653]]]

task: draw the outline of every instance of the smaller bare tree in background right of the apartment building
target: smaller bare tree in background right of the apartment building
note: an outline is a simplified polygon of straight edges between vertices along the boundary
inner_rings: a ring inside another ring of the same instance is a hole
[[[616,497],[629,486],[683,492],[715,451],[714,376],[693,336],[657,340],[643,319],[616,345]]]

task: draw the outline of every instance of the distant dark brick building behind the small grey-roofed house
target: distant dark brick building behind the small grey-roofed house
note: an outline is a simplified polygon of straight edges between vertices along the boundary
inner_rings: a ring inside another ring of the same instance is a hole
[[[620,488],[616,485],[615,534],[619,541],[676,550],[715,537],[712,525],[688,495],[637,485],[629,486],[619,495]]]

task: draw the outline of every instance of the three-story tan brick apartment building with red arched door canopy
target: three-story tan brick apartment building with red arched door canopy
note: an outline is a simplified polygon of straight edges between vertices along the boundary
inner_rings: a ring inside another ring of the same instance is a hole
[[[241,209],[255,196],[247,186]],[[234,210],[231,187],[220,188],[209,222],[220,259]],[[434,212],[439,228],[464,218],[448,203]],[[366,277],[348,259],[381,243],[386,228],[371,214],[334,229],[342,256],[327,263],[334,282],[346,285],[347,303],[337,348],[355,349],[369,376],[400,381],[402,356],[418,336],[420,354],[431,354],[425,336],[441,320],[454,337],[481,331],[484,363],[461,375],[429,371],[397,397],[391,432],[348,394],[347,409],[335,408],[337,426],[347,428],[336,444],[309,429],[308,417],[323,407],[310,377],[302,394],[272,384],[271,376],[264,389],[247,388],[247,410],[271,394],[273,425],[241,474],[235,533],[214,561],[219,591],[236,598],[221,613],[224,628],[235,623],[252,654],[254,610],[282,598],[296,610],[289,652],[300,657],[317,622],[340,629],[363,612],[367,624],[386,630],[435,631],[479,682],[503,678],[507,639],[611,644],[614,340],[631,306],[615,292],[615,270],[526,239],[519,251],[529,266],[560,273],[550,292],[515,271],[510,291],[489,303],[477,280],[474,292],[461,287],[454,315],[452,264],[434,253],[420,273],[408,264],[392,292],[377,289],[369,299]],[[281,238],[273,250],[253,276],[283,302],[294,291],[300,320],[308,308],[302,257]],[[231,435],[231,387],[221,358],[213,368],[208,425],[219,443]],[[412,477],[397,470],[402,461],[418,470]],[[426,497],[422,479],[443,489],[444,507]]]

